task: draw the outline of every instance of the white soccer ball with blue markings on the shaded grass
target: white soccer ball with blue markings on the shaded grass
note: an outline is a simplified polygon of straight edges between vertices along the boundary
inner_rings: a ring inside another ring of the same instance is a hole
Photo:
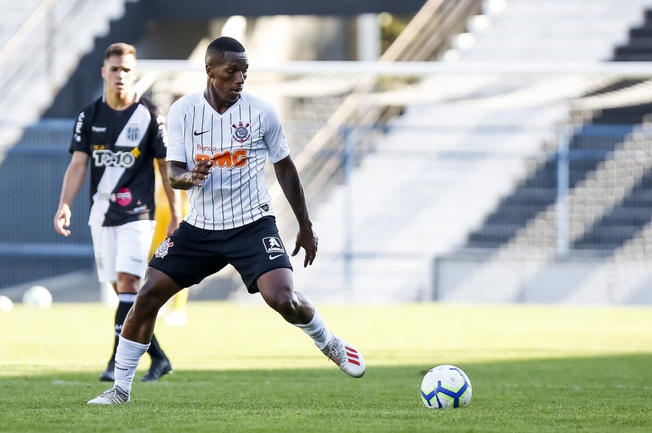
[[[428,409],[464,407],[471,402],[471,381],[455,365],[438,365],[423,377],[421,400]]]

